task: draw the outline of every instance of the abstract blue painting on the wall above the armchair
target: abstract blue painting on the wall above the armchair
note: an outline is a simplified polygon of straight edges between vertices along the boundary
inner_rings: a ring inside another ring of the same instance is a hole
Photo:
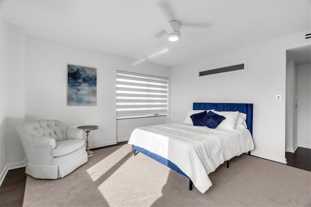
[[[96,106],[96,68],[68,64],[68,106]]]

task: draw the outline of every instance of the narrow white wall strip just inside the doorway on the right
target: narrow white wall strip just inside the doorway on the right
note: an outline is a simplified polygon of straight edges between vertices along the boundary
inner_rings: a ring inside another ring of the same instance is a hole
[[[298,96],[298,66],[293,60],[286,65],[286,147],[287,152],[294,152],[298,147],[297,141],[297,104]]]

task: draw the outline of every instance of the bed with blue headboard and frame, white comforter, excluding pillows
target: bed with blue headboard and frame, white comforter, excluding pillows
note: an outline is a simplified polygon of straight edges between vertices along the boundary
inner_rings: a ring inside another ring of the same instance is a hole
[[[138,127],[132,132],[128,144],[132,145],[134,155],[140,152],[155,159],[188,177],[190,190],[194,185],[205,193],[212,185],[209,173],[225,161],[228,167],[228,160],[243,153],[250,155],[254,149],[253,104],[195,102],[193,110],[243,113],[246,114],[243,120],[246,126],[234,129],[208,128],[193,126],[185,121]]]

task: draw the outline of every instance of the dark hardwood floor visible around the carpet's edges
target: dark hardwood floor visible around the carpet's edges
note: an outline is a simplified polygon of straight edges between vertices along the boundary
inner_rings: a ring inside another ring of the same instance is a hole
[[[125,144],[122,142],[111,146]],[[102,149],[100,147],[92,150]],[[298,147],[295,153],[285,153],[287,165],[311,171],[311,149]],[[25,168],[9,170],[0,187],[0,207],[20,207],[23,203],[26,184]]]

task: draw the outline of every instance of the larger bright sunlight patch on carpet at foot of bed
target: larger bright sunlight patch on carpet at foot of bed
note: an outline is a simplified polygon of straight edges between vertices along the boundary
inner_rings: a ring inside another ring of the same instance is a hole
[[[109,176],[98,190],[109,206],[128,206],[129,203],[151,206],[162,197],[169,173],[168,167],[138,153]]]

